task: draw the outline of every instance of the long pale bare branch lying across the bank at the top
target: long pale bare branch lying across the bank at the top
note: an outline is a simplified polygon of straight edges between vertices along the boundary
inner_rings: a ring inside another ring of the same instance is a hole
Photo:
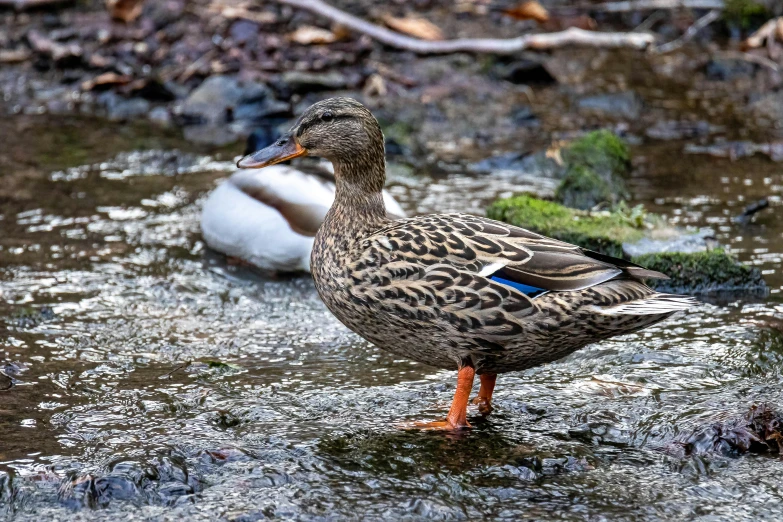
[[[535,49],[546,50],[566,46],[646,49],[655,43],[655,36],[648,33],[599,33],[572,27],[557,33],[541,33],[519,38],[460,38],[457,40],[428,41],[405,36],[385,27],[362,20],[341,11],[321,0],[275,0],[280,4],[298,7],[323,16],[343,27],[365,34],[378,42],[412,51],[417,54],[447,54],[474,52],[488,54],[515,54]]]

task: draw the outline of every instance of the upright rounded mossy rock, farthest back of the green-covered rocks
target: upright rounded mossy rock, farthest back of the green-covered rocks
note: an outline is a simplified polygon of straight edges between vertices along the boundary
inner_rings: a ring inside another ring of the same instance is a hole
[[[589,132],[565,148],[562,157],[565,175],[555,191],[558,202],[588,210],[628,197],[625,176],[630,171],[631,154],[614,133]]]

